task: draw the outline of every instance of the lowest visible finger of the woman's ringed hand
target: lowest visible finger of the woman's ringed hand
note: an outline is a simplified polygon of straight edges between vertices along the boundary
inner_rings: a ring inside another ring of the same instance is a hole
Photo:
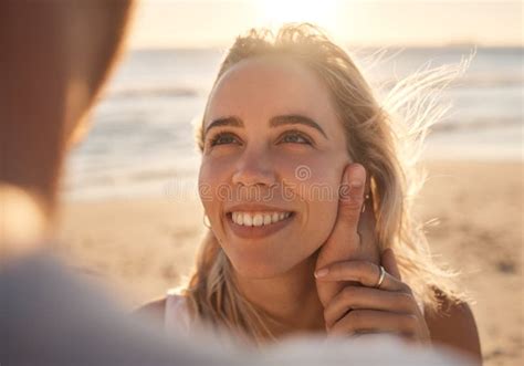
[[[419,320],[411,314],[397,314],[376,310],[349,312],[328,330],[329,335],[354,335],[357,333],[417,334]]]

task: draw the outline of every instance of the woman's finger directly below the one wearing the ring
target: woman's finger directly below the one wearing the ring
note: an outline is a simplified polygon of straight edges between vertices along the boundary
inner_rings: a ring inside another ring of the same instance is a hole
[[[324,310],[326,327],[332,327],[349,311],[379,310],[402,314],[417,314],[417,302],[404,292],[382,291],[361,286],[344,287]]]

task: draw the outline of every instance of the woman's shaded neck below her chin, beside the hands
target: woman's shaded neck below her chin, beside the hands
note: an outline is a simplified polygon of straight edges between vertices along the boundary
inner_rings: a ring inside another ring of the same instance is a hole
[[[312,255],[290,271],[269,279],[234,274],[240,292],[276,321],[268,322],[276,336],[324,331],[324,307],[313,275],[315,261],[316,255]]]

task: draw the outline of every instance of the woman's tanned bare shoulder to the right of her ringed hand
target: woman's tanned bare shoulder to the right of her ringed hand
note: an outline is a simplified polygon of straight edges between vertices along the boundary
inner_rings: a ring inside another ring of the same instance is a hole
[[[470,305],[436,291],[441,301],[440,311],[426,311],[426,323],[434,343],[451,346],[482,359],[479,331]]]

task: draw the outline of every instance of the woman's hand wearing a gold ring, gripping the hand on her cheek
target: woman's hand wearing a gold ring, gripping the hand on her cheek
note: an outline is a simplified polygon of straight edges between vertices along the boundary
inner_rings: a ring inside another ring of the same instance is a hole
[[[340,283],[343,289],[324,309],[329,335],[388,333],[420,344],[430,334],[409,285],[391,249],[384,251],[380,266],[368,261],[340,261],[317,271],[317,281]],[[357,285],[347,285],[347,281]]]

